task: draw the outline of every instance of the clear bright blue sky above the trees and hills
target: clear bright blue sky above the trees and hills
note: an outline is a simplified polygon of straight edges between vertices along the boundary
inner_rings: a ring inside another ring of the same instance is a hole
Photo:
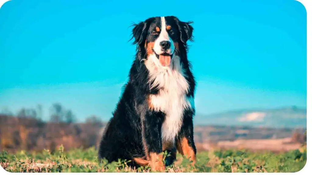
[[[135,46],[132,22],[194,21],[197,113],[306,107],[306,11],[294,0],[12,0],[0,9],[0,109],[54,102],[111,117]]]

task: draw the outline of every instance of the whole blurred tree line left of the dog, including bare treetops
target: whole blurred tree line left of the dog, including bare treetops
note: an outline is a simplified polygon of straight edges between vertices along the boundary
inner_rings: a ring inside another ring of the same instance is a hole
[[[77,122],[70,109],[60,103],[49,108],[48,121],[42,120],[42,106],[22,108],[14,115],[8,108],[0,111],[0,150],[50,149],[63,144],[66,149],[97,146],[105,126],[99,117]]]

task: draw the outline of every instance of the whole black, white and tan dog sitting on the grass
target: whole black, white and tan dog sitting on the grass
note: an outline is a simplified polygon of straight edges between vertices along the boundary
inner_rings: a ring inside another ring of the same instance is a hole
[[[187,59],[192,23],[166,16],[133,25],[135,59],[100,141],[99,159],[109,163],[126,159],[131,167],[163,171],[178,151],[194,166],[196,82]],[[164,151],[170,155],[164,158]]]

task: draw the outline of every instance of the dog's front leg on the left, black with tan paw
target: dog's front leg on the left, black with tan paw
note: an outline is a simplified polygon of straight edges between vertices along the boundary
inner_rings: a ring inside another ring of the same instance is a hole
[[[149,166],[153,171],[163,171],[161,126],[164,120],[162,112],[147,111],[141,118],[143,146]]]

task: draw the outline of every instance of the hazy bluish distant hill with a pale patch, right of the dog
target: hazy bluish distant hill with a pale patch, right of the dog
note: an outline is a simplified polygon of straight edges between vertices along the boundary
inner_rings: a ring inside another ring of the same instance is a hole
[[[277,109],[243,109],[211,115],[197,114],[194,124],[306,128],[307,109],[292,106]]]

